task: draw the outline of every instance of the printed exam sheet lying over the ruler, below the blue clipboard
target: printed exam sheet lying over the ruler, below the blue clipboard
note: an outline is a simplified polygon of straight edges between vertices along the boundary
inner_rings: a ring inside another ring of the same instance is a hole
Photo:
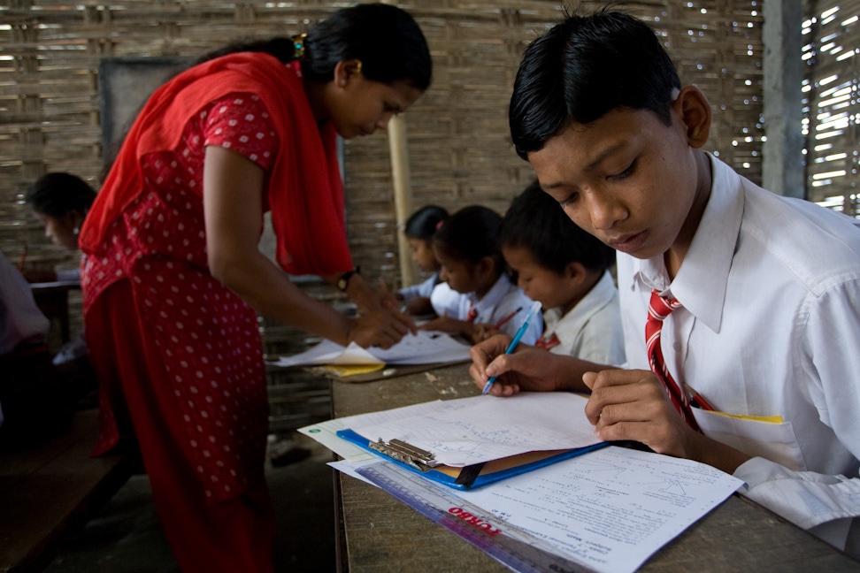
[[[330,465],[366,482],[356,470],[367,463]],[[702,463],[610,446],[477,490],[444,491],[589,569],[632,573],[741,485]],[[418,496],[444,487],[420,478],[409,486]]]

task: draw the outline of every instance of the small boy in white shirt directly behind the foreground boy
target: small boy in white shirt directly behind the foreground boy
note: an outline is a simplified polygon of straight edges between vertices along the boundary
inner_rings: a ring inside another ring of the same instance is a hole
[[[624,363],[615,250],[573,225],[535,181],[511,202],[499,243],[517,284],[543,305],[538,348],[602,364]]]

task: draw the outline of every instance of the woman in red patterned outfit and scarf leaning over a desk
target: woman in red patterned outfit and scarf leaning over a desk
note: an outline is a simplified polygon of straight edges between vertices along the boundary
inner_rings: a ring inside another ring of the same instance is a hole
[[[424,35],[398,8],[362,4],[247,50],[157,89],[81,229],[96,454],[134,434],[187,573],[272,570],[257,313],[364,347],[411,327],[351,272],[335,135],[372,134],[426,91]],[[281,268],[257,248],[265,210]],[[361,316],[284,271],[345,284]]]

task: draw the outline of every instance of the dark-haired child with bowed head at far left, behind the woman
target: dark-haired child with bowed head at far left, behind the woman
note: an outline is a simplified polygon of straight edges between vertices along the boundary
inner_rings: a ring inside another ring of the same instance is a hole
[[[54,172],[43,175],[27,189],[24,201],[35,218],[45,226],[45,236],[55,245],[70,251],[78,250],[78,233],[96,192],[77,175]],[[68,271],[27,271],[21,269],[30,282],[80,280],[81,269]]]

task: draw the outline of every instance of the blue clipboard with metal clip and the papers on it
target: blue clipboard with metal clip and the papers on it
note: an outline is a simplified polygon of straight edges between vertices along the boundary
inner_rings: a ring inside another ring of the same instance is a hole
[[[337,418],[300,431],[347,459],[355,459],[355,451],[338,451],[331,433],[428,479],[469,489],[605,445],[584,414],[586,401],[574,393],[474,396]]]

